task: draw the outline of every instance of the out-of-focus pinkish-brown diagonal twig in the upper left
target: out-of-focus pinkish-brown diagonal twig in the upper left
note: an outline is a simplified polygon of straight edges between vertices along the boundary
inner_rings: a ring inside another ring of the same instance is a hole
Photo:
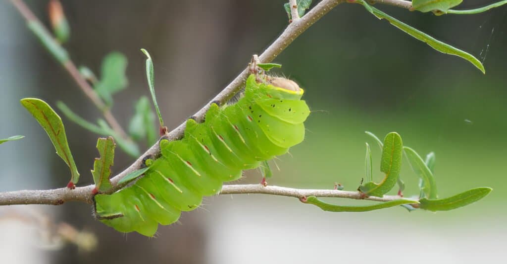
[[[18,12],[24,17],[27,22],[35,21],[37,23],[41,23],[41,21],[31,12],[30,8],[28,8],[28,6],[26,6],[22,0],[11,0],[11,3],[16,7]],[[100,97],[98,97],[97,93],[95,93],[83,75],[81,75],[74,62],[69,59],[63,63],[63,67],[78,84],[83,93],[85,93],[85,95],[93,102],[97,109],[102,112],[104,119],[111,126],[111,128],[113,128],[113,130],[125,140],[132,141],[127,133],[125,133],[125,130],[122,128],[120,123],[118,123],[116,118],[113,116],[111,110],[106,107],[104,102],[100,99]]]

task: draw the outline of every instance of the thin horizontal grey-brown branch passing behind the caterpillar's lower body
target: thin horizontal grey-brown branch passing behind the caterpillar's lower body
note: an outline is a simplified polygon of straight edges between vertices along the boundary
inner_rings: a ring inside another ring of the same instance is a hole
[[[60,205],[64,202],[77,201],[92,203],[92,190],[94,186],[78,187],[74,190],[68,188],[59,188],[54,190],[22,190],[14,192],[0,193],[0,205],[14,204],[52,204]],[[294,189],[279,186],[266,186],[260,184],[238,184],[224,185],[221,195],[224,194],[270,194],[278,196],[288,196],[303,198],[309,196],[316,197],[336,197],[347,199],[364,199],[378,202],[388,202],[401,199],[400,196],[384,196],[384,197],[365,197],[364,193],[340,191],[340,190],[311,190],[311,189]]]

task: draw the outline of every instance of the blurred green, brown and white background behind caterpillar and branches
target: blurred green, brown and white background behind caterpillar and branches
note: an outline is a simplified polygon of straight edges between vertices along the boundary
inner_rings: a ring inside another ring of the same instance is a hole
[[[465,1],[476,8],[491,1]],[[26,1],[48,25],[47,1]],[[128,60],[128,89],[115,96],[113,113],[127,127],[133,103],[149,95],[144,55],[156,70],[159,104],[169,128],[176,127],[218,93],[287,25],[284,1],[62,1],[71,27],[66,48],[78,65],[99,72],[107,53]],[[478,57],[473,65],[440,54],[380,21],[359,5],[339,5],[297,38],[276,60],[275,70],[306,89],[312,109],[305,141],[276,161],[269,183],[331,189],[340,182],[355,190],[365,176],[365,142],[372,146],[375,179],[380,151],[364,134],[401,134],[421,155],[436,152],[440,197],[489,186],[478,203],[437,214],[403,208],[367,213],[329,213],[296,199],[258,195],[211,197],[203,209],[185,213],[180,225],[161,227],[159,237],[123,235],[93,220],[86,204],[14,206],[42,210],[98,236],[92,253],[68,245],[44,249],[37,230],[0,222],[0,249],[23,263],[157,261],[171,263],[278,263],[375,261],[474,263],[503,253],[507,229],[507,8],[484,14],[436,17],[376,5],[386,13]],[[48,189],[68,182],[43,130],[19,104],[38,97],[61,100],[88,120],[100,117],[60,65],[39,45],[9,2],[0,3],[0,137],[27,136],[0,148],[0,190]],[[71,150],[92,183],[96,135],[63,118]],[[144,149],[146,146],[142,146]],[[114,172],[133,159],[117,151]],[[120,154],[121,153],[121,154]],[[403,166],[406,196],[417,178]],[[241,183],[257,183],[257,171]],[[394,192],[394,191],[393,191]],[[335,201],[353,203],[354,201]],[[355,202],[357,203],[357,202]],[[0,208],[5,209],[5,208]],[[30,209],[31,210],[31,209]],[[27,249],[28,248],[28,249]],[[17,253],[16,253],[17,252]],[[24,252],[24,253],[19,253]],[[20,255],[21,254],[21,255]],[[12,258],[9,258],[11,256]],[[361,261],[362,260],[362,261]]]

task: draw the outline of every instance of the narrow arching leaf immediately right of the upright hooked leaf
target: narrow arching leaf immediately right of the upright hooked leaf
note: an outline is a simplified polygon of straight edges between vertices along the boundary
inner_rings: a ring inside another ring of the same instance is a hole
[[[431,170],[428,166],[426,166],[426,163],[422,160],[421,156],[415,152],[415,150],[406,146],[403,147],[403,150],[405,150],[405,154],[407,155],[407,159],[409,160],[412,170],[414,170],[417,176],[423,181],[421,191],[425,194],[425,197],[429,199],[436,199],[438,197],[437,183],[433,178]]]

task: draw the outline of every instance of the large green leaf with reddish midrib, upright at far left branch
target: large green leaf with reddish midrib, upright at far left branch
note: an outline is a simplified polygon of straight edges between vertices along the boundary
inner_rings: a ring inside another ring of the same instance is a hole
[[[33,115],[35,120],[41,124],[44,130],[46,130],[51,142],[55,146],[56,154],[58,154],[70,168],[72,175],[70,182],[77,184],[79,172],[74,158],[72,157],[72,153],[70,153],[67,136],[65,135],[65,128],[63,127],[60,116],[58,116],[46,102],[37,98],[21,99],[21,104]]]

